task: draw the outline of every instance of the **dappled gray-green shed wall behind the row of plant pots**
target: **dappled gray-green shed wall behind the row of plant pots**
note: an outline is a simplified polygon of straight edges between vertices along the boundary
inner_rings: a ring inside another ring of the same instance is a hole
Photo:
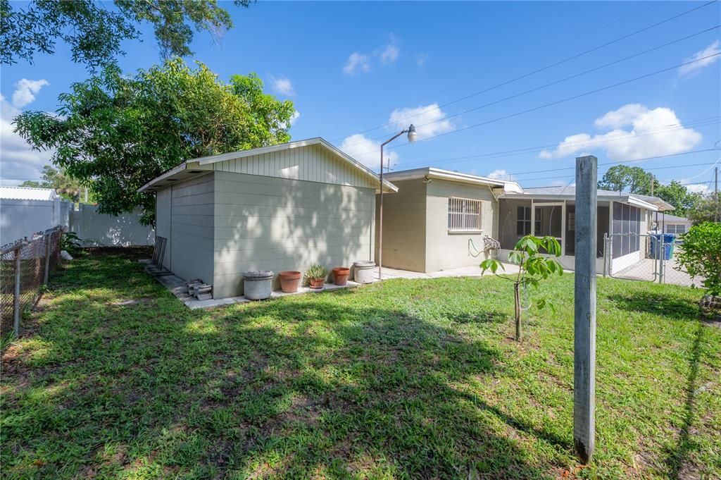
[[[216,170],[214,192],[215,297],[242,294],[244,271],[371,259],[374,188]]]

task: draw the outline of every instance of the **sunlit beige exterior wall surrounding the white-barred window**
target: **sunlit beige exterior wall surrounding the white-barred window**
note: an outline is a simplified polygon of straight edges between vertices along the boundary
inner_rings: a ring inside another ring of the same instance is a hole
[[[498,203],[490,188],[437,179],[428,183],[427,188],[425,271],[478,265],[485,258],[484,253],[478,255],[478,250],[483,250],[483,236],[497,238]],[[481,232],[448,231],[450,197],[482,201]]]

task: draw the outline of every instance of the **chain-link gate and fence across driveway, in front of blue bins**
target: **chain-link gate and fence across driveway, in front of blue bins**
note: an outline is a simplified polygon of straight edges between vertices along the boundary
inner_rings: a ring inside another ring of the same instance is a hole
[[[691,287],[694,279],[678,266],[684,243],[676,235],[614,233],[603,236],[603,275]]]

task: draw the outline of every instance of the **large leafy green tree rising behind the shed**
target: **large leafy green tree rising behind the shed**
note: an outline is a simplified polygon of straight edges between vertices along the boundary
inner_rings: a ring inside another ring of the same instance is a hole
[[[134,77],[107,67],[60,95],[58,115],[25,112],[16,131],[89,186],[99,211],[141,207],[154,219],[154,196],[137,189],[184,160],[283,143],[295,111],[262,91],[255,75],[222,82],[203,64],[176,58]]]

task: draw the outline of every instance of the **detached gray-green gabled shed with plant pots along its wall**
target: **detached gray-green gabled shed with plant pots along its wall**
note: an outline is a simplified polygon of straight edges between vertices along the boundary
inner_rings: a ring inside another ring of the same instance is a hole
[[[156,193],[163,266],[223,298],[242,294],[244,271],[372,260],[380,188],[375,173],[314,138],[187,160],[138,191]]]

